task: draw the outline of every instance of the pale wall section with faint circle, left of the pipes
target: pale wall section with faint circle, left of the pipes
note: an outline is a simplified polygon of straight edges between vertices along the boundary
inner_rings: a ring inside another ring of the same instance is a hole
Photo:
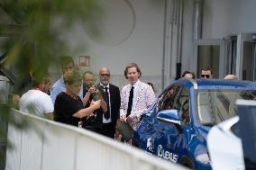
[[[101,40],[80,24],[65,35],[70,47],[82,47],[72,54],[77,63],[79,56],[91,57],[90,67],[80,67],[81,72],[91,70],[97,74],[100,67],[107,66],[114,84],[122,87],[127,84],[124,67],[135,62],[142,69],[142,80],[159,84],[164,0],[108,0],[102,4],[105,7],[103,22],[97,23],[104,35]]]

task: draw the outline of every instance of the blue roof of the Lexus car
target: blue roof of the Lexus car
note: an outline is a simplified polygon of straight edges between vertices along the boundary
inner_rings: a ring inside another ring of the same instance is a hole
[[[247,80],[188,79],[180,78],[173,84],[182,84],[194,89],[242,89],[256,90],[256,82]],[[173,85],[172,84],[172,85]]]

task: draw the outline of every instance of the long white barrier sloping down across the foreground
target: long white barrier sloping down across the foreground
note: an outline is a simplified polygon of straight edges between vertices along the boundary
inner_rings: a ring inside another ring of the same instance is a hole
[[[8,125],[6,170],[166,170],[185,169],[142,150],[123,145],[88,130],[12,111],[26,129]]]

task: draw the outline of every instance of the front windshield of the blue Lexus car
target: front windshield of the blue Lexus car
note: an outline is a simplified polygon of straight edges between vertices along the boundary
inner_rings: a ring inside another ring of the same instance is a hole
[[[256,100],[256,91],[207,89],[197,94],[197,117],[201,124],[214,126],[237,114],[235,101],[237,99]]]

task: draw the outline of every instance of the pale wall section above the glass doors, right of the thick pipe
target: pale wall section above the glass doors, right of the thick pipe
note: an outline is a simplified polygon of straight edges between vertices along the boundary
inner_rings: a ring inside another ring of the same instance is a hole
[[[205,0],[203,38],[256,32],[255,0]]]

